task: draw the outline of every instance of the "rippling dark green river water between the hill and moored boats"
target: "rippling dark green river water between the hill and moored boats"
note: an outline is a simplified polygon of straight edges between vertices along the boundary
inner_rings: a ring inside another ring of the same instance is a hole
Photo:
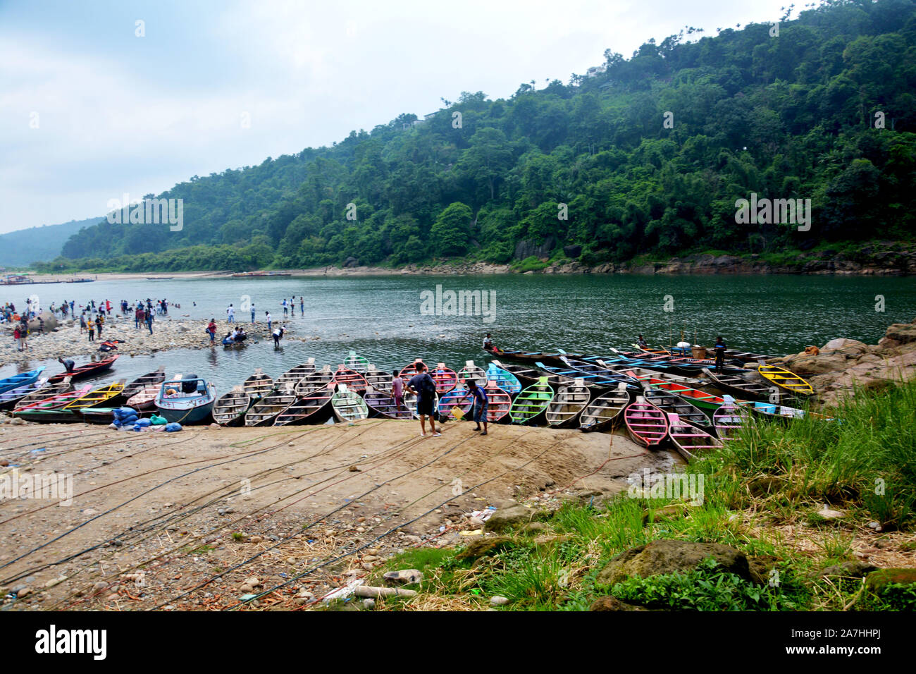
[[[436,315],[437,286],[442,312]],[[448,291],[480,291],[487,299],[477,315],[447,315]],[[424,294],[425,293],[425,294]],[[25,305],[38,294],[43,307],[73,299],[86,304],[105,299],[165,298],[180,304],[169,308],[173,319],[215,317],[224,329],[226,307],[254,303],[259,320],[269,309],[275,323],[286,324],[295,336],[320,337],[284,341],[275,350],[261,341],[240,350],[222,346],[177,349],[149,356],[118,359],[105,379],[130,379],[159,365],[167,371],[195,372],[225,392],[255,368],[276,377],[314,358],[318,365],[336,365],[350,350],[378,367],[392,370],[415,358],[427,364],[444,362],[454,370],[465,360],[488,361],[481,349],[486,332],[497,346],[549,350],[606,352],[628,348],[639,333],[651,345],[680,340],[711,345],[717,334],[731,348],[764,353],[794,353],[809,344],[823,345],[834,337],[874,344],[891,323],[916,317],[916,279],[859,276],[639,276],[506,274],[486,276],[390,275],[371,277],[280,277],[273,279],[182,279],[98,281],[0,286],[0,304]],[[280,303],[296,298],[295,317],[284,320]],[[305,315],[301,315],[299,298]],[[422,300],[428,299],[427,306]],[[879,309],[882,309],[880,311]],[[428,311],[422,312],[422,309]],[[431,310],[431,311],[430,311]],[[430,315],[432,313],[432,315]],[[249,322],[250,312],[236,311]],[[159,320],[155,329],[174,329]],[[225,330],[224,330],[225,332]],[[695,336],[695,337],[694,337]],[[206,335],[202,333],[202,340]],[[123,351],[129,350],[123,348]],[[77,359],[78,363],[86,360]],[[27,367],[0,364],[0,377]],[[45,362],[50,372],[56,361]]]

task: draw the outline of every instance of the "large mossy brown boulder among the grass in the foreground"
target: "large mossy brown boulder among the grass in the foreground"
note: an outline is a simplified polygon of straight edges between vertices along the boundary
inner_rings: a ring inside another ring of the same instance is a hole
[[[745,580],[761,582],[747,561],[747,555],[718,543],[695,543],[661,539],[633,547],[611,559],[598,574],[598,585],[614,585],[630,576],[649,578],[675,571],[691,571],[706,558],[714,558],[722,569]]]

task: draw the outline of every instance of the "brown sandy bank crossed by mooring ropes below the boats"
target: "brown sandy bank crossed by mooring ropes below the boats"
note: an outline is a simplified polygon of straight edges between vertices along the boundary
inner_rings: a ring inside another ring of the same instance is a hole
[[[678,460],[620,435],[473,427],[422,438],[417,422],[382,420],[178,434],[2,425],[0,480],[14,468],[71,476],[73,500],[0,500],[0,598],[16,588],[17,609],[220,609],[305,574],[260,602],[293,608],[398,550],[468,540],[487,506],[613,494]]]

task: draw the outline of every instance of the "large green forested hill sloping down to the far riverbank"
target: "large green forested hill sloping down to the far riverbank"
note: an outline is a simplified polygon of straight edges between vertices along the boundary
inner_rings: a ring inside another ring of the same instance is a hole
[[[195,176],[159,195],[184,200],[180,232],[103,223],[63,254],[104,251],[82,267],[250,269],[506,262],[576,244],[594,264],[910,236],[916,2],[834,0],[771,32],[682,33],[628,59],[608,50],[567,84],[465,93],[426,120]],[[751,193],[810,198],[810,231],[737,224]]]

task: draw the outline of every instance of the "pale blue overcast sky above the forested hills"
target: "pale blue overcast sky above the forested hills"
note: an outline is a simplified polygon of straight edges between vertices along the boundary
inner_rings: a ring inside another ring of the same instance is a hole
[[[104,215],[123,193],[330,145],[463,91],[568,83],[605,49],[775,21],[787,4],[0,0],[0,232]]]

